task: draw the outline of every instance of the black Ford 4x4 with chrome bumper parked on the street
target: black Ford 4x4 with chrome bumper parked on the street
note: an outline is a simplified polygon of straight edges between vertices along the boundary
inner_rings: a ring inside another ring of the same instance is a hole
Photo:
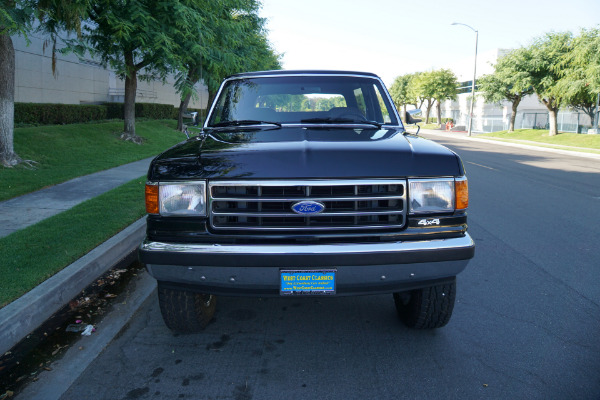
[[[370,73],[227,78],[150,165],[146,208],[140,259],[173,331],[203,329],[216,295],[391,293],[406,325],[442,327],[475,249],[459,156],[409,134]]]

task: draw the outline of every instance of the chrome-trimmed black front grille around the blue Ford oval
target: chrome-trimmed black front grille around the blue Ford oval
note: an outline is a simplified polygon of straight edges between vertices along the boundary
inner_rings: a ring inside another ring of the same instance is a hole
[[[214,229],[247,231],[398,229],[406,219],[406,181],[215,181],[209,183]],[[325,206],[297,214],[301,201]]]

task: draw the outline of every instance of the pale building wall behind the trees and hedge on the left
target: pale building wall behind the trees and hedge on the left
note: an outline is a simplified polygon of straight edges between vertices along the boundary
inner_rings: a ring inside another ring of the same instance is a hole
[[[51,48],[43,49],[44,38],[30,35],[31,43],[20,36],[12,37],[15,47],[15,102],[100,104],[123,102],[125,81],[109,67],[89,56],[57,53],[56,76],[52,74]],[[138,79],[136,102],[172,104],[179,107],[180,96],[174,88],[173,76],[161,81]],[[206,108],[208,92],[198,90],[198,100],[189,108]]]

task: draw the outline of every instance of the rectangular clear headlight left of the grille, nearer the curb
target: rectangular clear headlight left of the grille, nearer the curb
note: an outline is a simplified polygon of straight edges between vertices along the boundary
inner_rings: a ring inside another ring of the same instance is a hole
[[[161,183],[159,213],[164,216],[205,216],[206,182]]]

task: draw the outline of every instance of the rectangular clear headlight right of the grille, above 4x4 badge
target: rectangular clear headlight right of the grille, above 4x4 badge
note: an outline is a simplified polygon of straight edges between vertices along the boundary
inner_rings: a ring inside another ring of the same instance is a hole
[[[409,179],[410,213],[454,211],[454,179]]]

